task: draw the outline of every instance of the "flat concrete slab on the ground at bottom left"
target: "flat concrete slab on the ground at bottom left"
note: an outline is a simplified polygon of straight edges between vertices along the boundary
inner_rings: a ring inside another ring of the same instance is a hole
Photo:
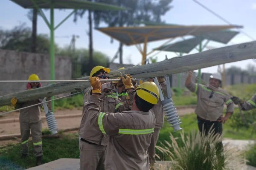
[[[80,160],[62,158],[27,170],[80,170]]]

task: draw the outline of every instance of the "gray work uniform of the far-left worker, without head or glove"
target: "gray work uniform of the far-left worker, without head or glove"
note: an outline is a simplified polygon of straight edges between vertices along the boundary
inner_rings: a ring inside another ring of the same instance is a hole
[[[24,108],[42,102],[42,99],[36,99],[28,102],[17,103],[16,108]],[[42,122],[41,107],[33,106],[20,110],[20,134],[21,134],[21,153],[29,152],[29,135],[32,134],[32,142],[34,145],[35,156],[43,155],[42,145]]]

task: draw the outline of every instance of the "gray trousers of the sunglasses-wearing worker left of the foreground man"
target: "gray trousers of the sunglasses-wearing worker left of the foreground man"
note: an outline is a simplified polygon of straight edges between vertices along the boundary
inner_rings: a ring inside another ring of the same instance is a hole
[[[106,147],[79,140],[80,170],[105,170]]]

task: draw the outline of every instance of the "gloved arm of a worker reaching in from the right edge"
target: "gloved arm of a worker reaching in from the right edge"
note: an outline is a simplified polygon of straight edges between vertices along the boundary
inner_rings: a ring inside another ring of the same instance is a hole
[[[236,105],[241,105],[243,111],[249,111],[256,108],[256,94],[254,94],[248,101],[244,101],[236,96],[233,96],[231,99]]]

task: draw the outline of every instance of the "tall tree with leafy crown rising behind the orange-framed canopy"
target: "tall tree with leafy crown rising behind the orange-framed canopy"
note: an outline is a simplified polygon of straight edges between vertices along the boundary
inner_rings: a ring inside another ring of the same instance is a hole
[[[99,3],[118,5],[129,10],[126,11],[94,11],[94,23],[96,27],[101,22],[113,26],[138,26],[134,21],[146,21],[163,23],[161,16],[172,7],[172,0],[97,0]],[[112,41],[111,41],[112,42]],[[122,64],[122,43],[119,44],[119,59]]]

